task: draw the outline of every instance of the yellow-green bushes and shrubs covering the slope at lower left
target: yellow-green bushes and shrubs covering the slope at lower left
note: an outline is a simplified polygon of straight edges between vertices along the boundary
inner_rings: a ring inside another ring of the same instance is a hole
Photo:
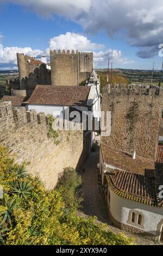
[[[105,231],[95,218],[76,215],[81,177],[66,168],[53,191],[14,163],[0,147],[0,245],[132,245],[126,236]]]

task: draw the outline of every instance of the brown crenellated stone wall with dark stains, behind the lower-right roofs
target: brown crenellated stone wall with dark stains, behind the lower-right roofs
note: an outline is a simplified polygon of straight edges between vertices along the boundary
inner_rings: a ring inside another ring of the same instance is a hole
[[[162,90],[104,88],[102,111],[111,111],[111,135],[102,141],[147,159],[156,159]]]

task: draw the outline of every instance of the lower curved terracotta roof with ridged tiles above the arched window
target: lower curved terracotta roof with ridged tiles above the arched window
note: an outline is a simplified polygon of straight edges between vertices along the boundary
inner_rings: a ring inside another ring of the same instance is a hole
[[[135,202],[161,207],[156,195],[154,178],[145,175],[115,170],[114,174],[106,174],[106,180],[112,191],[118,196]]]

